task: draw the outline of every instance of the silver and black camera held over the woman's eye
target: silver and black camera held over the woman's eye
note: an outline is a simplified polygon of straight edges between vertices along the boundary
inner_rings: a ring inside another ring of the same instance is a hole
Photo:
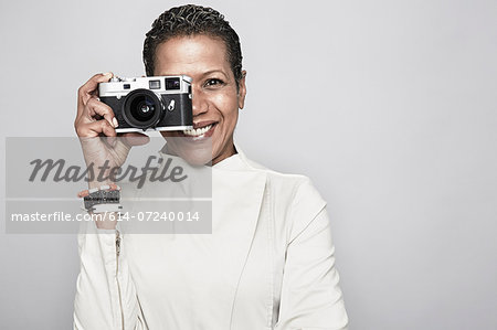
[[[116,132],[191,129],[191,78],[186,75],[113,77],[98,97],[116,116]]]

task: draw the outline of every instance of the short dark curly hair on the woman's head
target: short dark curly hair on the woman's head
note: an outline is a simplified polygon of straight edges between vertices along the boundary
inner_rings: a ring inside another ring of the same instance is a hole
[[[216,10],[195,4],[171,8],[160,14],[151,25],[144,42],[144,64],[148,76],[154,75],[156,50],[175,36],[204,34],[220,38],[226,46],[228,61],[239,85],[242,74],[242,49],[236,32]]]

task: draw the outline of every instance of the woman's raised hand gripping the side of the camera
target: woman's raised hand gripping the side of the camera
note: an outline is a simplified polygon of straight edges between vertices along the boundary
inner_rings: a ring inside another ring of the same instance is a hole
[[[117,137],[117,119],[113,109],[98,98],[98,84],[106,83],[113,77],[112,73],[96,74],[91,77],[77,93],[77,114],[74,128],[80,137],[86,166],[93,166],[96,171],[105,164],[108,177],[113,168],[119,168],[126,161],[133,146],[145,145],[149,141],[146,135],[138,132],[123,134]],[[97,175],[89,182],[89,188],[112,182],[106,179],[97,181]]]

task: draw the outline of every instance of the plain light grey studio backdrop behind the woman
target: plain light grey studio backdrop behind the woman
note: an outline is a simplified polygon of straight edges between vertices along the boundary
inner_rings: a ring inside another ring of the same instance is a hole
[[[2,155],[73,136],[77,87],[141,75],[178,3],[2,1]],[[237,142],[329,203],[350,328],[497,329],[497,2],[199,3],[242,39]],[[68,329],[78,266],[74,235],[0,234],[0,329]]]

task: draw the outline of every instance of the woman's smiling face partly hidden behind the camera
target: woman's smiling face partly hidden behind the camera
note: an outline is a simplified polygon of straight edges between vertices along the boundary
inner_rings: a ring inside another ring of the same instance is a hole
[[[221,39],[208,35],[177,36],[157,47],[156,76],[184,74],[192,78],[193,128],[186,131],[162,131],[162,136],[181,137],[194,150],[210,138],[212,163],[234,155],[233,132],[239,118],[239,108],[245,102],[245,77],[236,81],[226,56],[226,46]],[[245,72],[243,74],[245,76]],[[189,158],[184,148],[168,146],[172,152]],[[191,157],[191,156],[190,156]],[[208,161],[209,161],[208,160]]]

